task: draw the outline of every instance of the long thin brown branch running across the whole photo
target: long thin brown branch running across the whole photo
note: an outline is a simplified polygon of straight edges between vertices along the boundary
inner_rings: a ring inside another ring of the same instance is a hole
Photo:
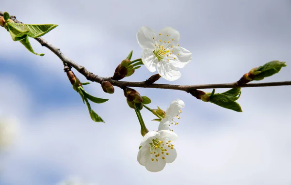
[[[3,15],[0,12],[0,15]],[[22,23],[16,19],[15,16],[10,17],[17,23]],[[170,84],[147,84],[146,81],[142,82],[130,82],[130,81],[117,81],[113,80],[110,77],[98,77],[97,75],[88,71],[84,66],[79,65],[73,60],[66,57],[59,48],[49,44],[45,39],[39,37],[35,38],[41,46],[47,47],[50,51],[52,51],[55,55],[57,55],[64,64],[72,66],[79,73],[81,73],[86,79],[90,81],[94,81],[97,83],[102,83],[102,81],[110,81],[112,85],[124,88],[124,87],[141,87],[141,88],[155,88],[155,89],[171,89],[171,90],[179,90],[185,91],[189,93],[192,90],[196,89],[213,89],[213,88],[236,88],[236,87],[267,87],[267,86],[283,86],[283,85],[291,85],[291,81],[282,81],[282,82],[268,82],[268,83],[253,83],[253,84],[242,84],[238,85],[237,82],[234,83],[222,83],[222,84],[203,84],[203,85],[170,85]]]

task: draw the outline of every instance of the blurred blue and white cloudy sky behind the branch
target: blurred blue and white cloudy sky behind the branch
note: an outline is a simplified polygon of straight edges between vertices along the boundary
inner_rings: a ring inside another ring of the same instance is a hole
[[[58,24],[44,38],[101,77],[112,76],[130,50],[132,59],[140,58],[136,32],[142,26],[172,26],[193,61],[180,70],[180,79],[159,83],[234,82],[273,60],[288,67],[261,82],[291,80],[291,0],[3,0],[0,11],[27,24]],[[290,86],[242,89],[242,113],[185,92],[136,88],[151,98],[151,108],[165,110],[177,98],[185,102],[173,128],[178,157],[152,173],[136,160],[140,125],[122,90],[84,87],[109,98],[91,104],[106,122],[94,123],[63,63],[30,40],[44,57],[0,28],[0,115],[19,125],[14,144],[0,154],[0,185],[57,185],[71,176],[94,185],[291,184]],[[142,67],[124,80],[151,75]],[[142,114],[148,129],[156,130],[155,117],[146,109]]]

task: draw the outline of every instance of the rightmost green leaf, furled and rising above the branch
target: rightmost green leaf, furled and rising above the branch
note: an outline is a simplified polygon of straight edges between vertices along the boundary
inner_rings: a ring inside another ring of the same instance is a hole
[[[282,67],[286,67],[286,62],[279,62],[279,61],[271,61],[266,63],[263,66],[259,66],[257,69],[254,70],[253,73],[260,72],[254,78],[254,80],[262,80],[264,77],[270,77],[278,73]]]

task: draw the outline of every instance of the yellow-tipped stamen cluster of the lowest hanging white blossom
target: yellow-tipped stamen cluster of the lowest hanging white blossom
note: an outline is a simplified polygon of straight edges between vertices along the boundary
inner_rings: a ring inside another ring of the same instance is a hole
[[[159,159],[165,160],[166,156],[169,155],[168,150],[173,150],[174,145],[171,141],[163,141],[160,139],[152,139],[150,145],[151,160],[158,162]]]

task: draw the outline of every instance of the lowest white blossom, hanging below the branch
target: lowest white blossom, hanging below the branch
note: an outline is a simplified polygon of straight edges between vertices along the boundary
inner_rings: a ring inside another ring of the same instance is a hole
[[[169,130],[151,131],[146,133],[137,155],[137,161],[146,167],[146,170],[161,171],[166,163],[172,163],[177,157],[177,151],[172,141],[178,136]]]

